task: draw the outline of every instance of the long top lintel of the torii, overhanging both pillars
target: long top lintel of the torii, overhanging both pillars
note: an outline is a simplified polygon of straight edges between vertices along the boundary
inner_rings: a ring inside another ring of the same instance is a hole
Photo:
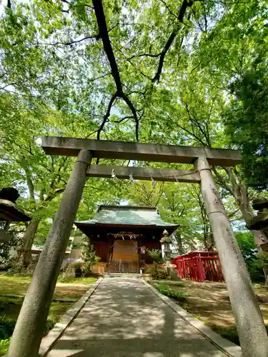
[[[242,162],[242,156],[237,150],[126,141],[43,136],[42,147],[46,154],[55,156],[77,156],[80,150],[86,149],[92,151],[94,157],[99,159],[193,164],[198,157],[206,157],[209,164],[215,166],[235,166]]]

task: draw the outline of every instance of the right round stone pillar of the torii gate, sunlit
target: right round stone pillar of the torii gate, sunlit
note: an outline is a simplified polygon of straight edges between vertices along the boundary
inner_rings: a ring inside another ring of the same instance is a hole
[[[262,312],[207,159],[198,158],[195,168],[201,178],[202,196],[227,283],[243,357],[267,357],[268,337]]]

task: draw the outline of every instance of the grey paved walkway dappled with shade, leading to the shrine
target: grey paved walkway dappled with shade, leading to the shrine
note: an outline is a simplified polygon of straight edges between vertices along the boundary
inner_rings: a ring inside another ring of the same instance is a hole
[[[104,278],[48,356],[226,357],[131,278]]]

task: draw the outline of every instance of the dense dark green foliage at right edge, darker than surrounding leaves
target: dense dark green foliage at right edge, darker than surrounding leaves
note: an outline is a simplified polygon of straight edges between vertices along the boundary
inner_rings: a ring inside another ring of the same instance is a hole
[[[234,81],[230,88],[234,99],[224,121],[227,132],[232,142],[242,150],[247,183],[267,190],[268,82],[264,58],[261,63],[255,61],[252,69]]]

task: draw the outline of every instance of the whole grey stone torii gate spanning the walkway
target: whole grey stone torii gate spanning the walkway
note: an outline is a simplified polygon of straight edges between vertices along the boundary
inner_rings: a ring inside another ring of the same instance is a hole
[[[9,357],[36,357],[49,313],[49,306],[64,252],[79,206],[86,177],[117,178],[200,183],[214,240],[222,262],[239,341],[245,357],[267,357],[268,337],[242,253],[224,210],[209,165],[235,166],[242,161],[238,151],[202,147],[139,144],[120,141],[46,136],[42,140],[46,154],[77,156],[62,195],[51,231],[34,271],[31,285],[16,322]],[[91,165],[92,158],[129,159],[194,164],[194,170],[142,169],[124,166]]]

